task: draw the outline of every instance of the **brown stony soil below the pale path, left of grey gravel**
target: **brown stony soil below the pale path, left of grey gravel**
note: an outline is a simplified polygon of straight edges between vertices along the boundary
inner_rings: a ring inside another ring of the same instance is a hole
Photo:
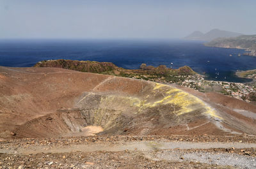
[[[152,161],[136,151],[0,154],[0,164],[4,168],[231,168],[188,161]]]

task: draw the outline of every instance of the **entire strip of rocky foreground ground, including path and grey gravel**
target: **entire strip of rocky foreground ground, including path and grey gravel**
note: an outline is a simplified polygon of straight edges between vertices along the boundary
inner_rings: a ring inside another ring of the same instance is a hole
[[[256,168],[255,140],[206,135],[1,140],[0,164],[1,168]]]

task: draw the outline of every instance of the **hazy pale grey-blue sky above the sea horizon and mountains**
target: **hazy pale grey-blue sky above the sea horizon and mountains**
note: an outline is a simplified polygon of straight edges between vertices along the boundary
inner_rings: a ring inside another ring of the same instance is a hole
[[[255,0],[0,0],[0,38],[182,38],[256,34]]]

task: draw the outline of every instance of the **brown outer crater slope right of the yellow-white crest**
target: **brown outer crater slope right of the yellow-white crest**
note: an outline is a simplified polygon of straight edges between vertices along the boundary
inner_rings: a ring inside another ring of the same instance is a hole
[[[239,133],[250,133],[248,132],[248,129],[250,129],[252,132],[250,134],[255,135],[253,133],[256,131],[256,119],[253,117],[248,117],[246,112],[250,112],[250,114],[256,115],[256,105],[252,103],[246,103],[246,101],[241,101],[240,99],[225,96],[217,92],[203,93],[188,87],[182,87],[179,85],[173,86],[193,94],[220,112],[221,117],[225,118],[225,121],[222,121],[223,125],[227,126],[227,128],[231,127],[231,130],[238,131]],[[246,112],[241,114],[237,112],[237,110]]]

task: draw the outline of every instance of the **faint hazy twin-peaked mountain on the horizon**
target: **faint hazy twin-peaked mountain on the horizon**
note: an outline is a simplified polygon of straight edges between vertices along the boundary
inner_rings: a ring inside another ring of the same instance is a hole
[[[230,38],[240,36],[240,33],[233,33],[229,31],[221,31],[220,29],[212,29],[208,33],[201,33],[200,31],[195,31],[189,36],[186,36],[186,40],[202,40],[202,41],[211,41],[216,38]]]

